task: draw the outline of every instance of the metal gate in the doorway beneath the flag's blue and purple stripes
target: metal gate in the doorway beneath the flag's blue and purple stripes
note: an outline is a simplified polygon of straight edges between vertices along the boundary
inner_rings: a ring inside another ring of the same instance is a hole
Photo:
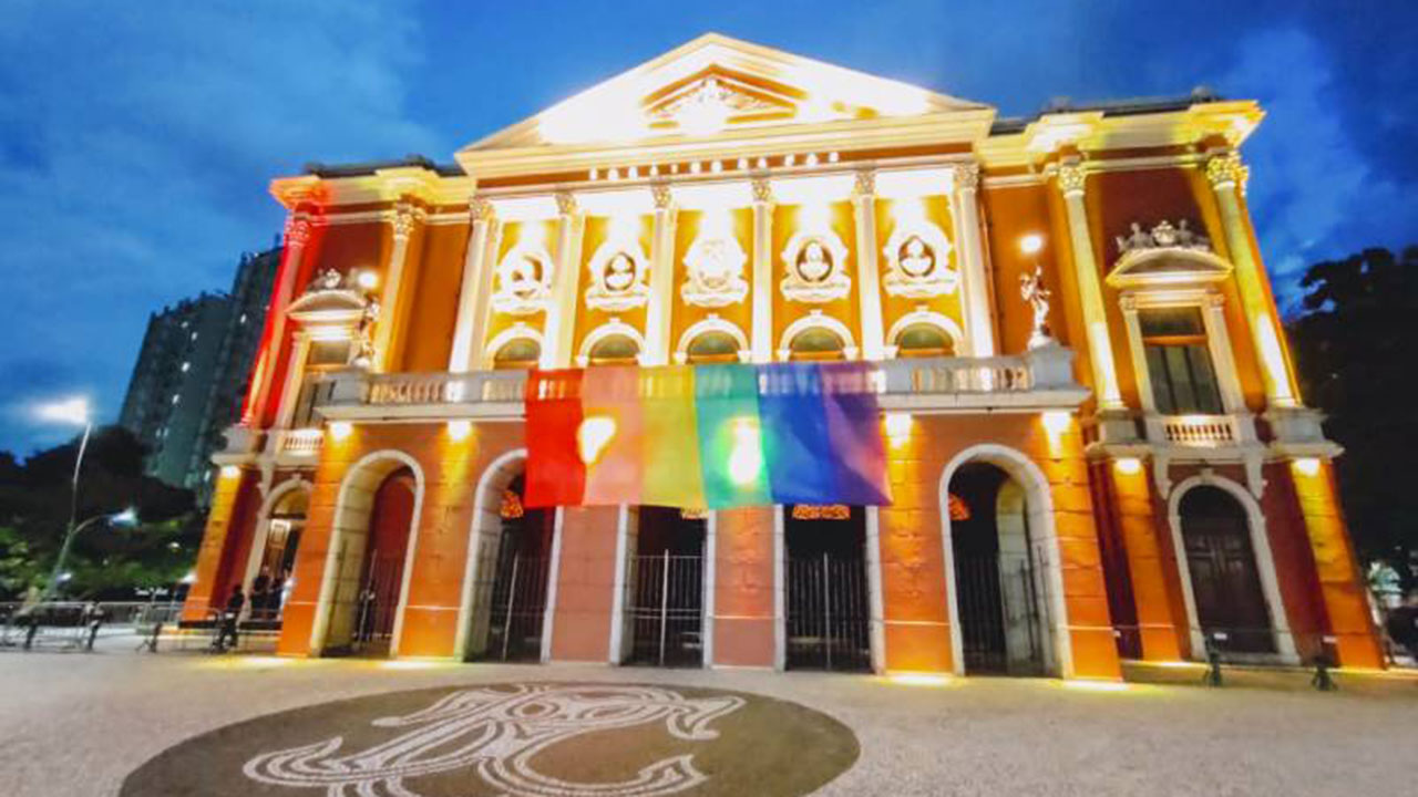
[[[872,668],[866,564],[861,557],[790,554],[787,589],[790,669]]]

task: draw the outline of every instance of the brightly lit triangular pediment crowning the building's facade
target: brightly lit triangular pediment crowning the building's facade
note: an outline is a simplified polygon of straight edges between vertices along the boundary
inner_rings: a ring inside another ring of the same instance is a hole
[[[464,153],[708,136],[988,106],[719,34],[702,35]]]

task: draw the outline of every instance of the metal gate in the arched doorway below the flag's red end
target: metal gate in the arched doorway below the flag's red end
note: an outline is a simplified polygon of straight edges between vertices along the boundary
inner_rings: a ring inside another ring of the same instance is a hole
[[[502,546],[492,580],[485,658],[540,661],[542,621],[546,617],[546,577],[550,560]]]

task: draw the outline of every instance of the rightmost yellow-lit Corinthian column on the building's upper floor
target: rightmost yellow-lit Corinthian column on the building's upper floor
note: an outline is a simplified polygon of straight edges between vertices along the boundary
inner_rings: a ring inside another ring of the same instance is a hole
[[[1207,180],[1217,194],[1221,210],[1221,228],[1227,237],[1227,250],[1235,267],[1236,292],[1241,294],[1241,308],[1246,326],[1251,328],[1251,343],[1261,362],[1261,379],[1265,383],[1265,398],[1271,407],[1296,407],[1299,401],[1290,390],[1289,367],[1280,347],[1278,319],[1271,312],[1261,264],[1251,250],[1251,234],[1245,211],[1236,197],[1236,189],[1245,183],[1248,169],[1241,163],[1241,153],[1229,150],[1207,160]]]

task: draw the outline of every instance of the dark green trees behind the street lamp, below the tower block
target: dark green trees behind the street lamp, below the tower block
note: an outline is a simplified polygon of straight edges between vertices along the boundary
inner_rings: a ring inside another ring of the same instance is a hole
[[[77,454],[77,440],[23,464],[0,452],[0,597],[20,596],[48,577],[68,526]],[[193,494],[147,476],[145,454],[121,427],[95,430],[89,440],[78,518],[133,506],[139,525],[85,529],[69,552],[68,596],[128,597],[138,587],[170,586],[191,567],[203,523]]]

